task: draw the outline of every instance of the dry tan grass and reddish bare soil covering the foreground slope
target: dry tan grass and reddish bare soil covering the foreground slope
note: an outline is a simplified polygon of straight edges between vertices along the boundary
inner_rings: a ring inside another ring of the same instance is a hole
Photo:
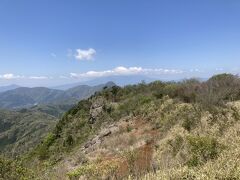
[[[240,179],[240,123],[236,109],[232,109],[234,106],[239,111],[240,103],[229,103],[214,116],[202,111],[198,125],[190,131],[182,126],[185,116],[181,114],[191,113],[192,105],[174,104],[170,99],[165,103],[150,111],[151,115],[119,121],[119,131],[106,137],[89,153],[89,164],[94,164],[93,168],[99,171],[102,167],[103,172],[105,166],[97,165],[99,159],[112,164],[115,169],[108,176],[110,179]],[[156,121],[161,121],[162,127],[155,128]],[[189,136],[211,137],[225,148],[216,158],[190,167],[187,164],[192,153]]]

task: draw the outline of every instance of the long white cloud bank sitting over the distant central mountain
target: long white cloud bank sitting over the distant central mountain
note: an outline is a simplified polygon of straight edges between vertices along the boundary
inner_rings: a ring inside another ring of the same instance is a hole
[[[161,75],[161,74],[181,74],[183,71],[176,69],[146,69],[142,67],[123,67],[119,66],[111,70],[105,71],[88,71],[86,73],[70,73],[72,78],[96,78],[96,77],[106,77],[106,76],[118,76],[118,75]]]

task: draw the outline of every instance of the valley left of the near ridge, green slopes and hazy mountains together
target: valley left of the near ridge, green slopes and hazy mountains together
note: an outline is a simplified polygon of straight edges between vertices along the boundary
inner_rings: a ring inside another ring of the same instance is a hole
[[[15,157],[30,151],[76,102],[112,85],[77,86],[67,92],[17,87],[0,93],[0,152]]]

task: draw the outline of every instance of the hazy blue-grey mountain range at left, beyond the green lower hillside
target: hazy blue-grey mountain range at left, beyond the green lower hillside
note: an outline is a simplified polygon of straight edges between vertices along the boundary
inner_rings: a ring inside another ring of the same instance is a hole
[[[18,87],[0,93],[0,108],[16,109],[28,108],[41,104],[75,104],[79,100],[88,98],[104,87],[115,84],[108,82],[97,86],[80,85],[68,90],[57,90],[45,87]]]

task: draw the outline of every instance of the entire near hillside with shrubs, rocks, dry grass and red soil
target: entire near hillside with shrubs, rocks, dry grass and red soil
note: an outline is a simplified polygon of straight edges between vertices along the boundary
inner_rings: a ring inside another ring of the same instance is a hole
[[[231,74],[105,88],[65,113],[21,167],[32,179],[240,179],[239,100]]]

